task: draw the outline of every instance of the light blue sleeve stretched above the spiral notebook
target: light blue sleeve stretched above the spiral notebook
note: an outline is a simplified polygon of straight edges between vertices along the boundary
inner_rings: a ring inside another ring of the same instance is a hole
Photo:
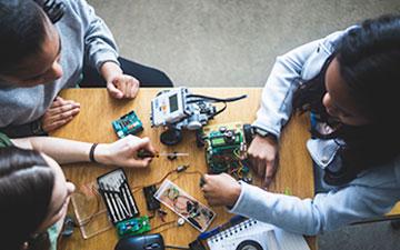
[[[347,186],[313,199],[300,199],[241,184],[241,194],[230,212],[307,236],[382,216],[400,199],[398,187]]]

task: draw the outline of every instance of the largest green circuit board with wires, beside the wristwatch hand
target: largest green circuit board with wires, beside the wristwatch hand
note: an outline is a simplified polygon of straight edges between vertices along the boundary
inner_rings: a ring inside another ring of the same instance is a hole
[[[251,126],[241,122],[204,127],[201,139],[206,143],[209,171],[227,172],[238,180],[251,182],[250,163],[246,159],[251,138]]]

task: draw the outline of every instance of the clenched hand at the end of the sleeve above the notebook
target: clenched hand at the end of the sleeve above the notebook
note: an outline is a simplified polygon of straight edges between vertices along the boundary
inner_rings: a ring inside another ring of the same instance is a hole
[[[238,201],[241,186],[228,173],[204,174],[201,190],[211,206],[233,207]]]

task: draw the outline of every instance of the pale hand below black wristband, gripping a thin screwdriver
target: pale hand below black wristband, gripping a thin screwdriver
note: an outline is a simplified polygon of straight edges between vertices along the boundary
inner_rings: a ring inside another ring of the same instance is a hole
[[[129,134],[113,143],[99,144],[94,150],[94,159],[103,164],[114,164],[129,168],[146,168],[152,158],[140,159],[137,152],[144,149],[156,154],[149,138],[139,138]]]

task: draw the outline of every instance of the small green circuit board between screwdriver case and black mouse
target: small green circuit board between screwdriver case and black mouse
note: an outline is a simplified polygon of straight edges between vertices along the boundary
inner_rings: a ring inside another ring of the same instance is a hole
[[[116,227],[120,238],[142,234],[151,230],[149,217],[147,216],[118,222]]]

